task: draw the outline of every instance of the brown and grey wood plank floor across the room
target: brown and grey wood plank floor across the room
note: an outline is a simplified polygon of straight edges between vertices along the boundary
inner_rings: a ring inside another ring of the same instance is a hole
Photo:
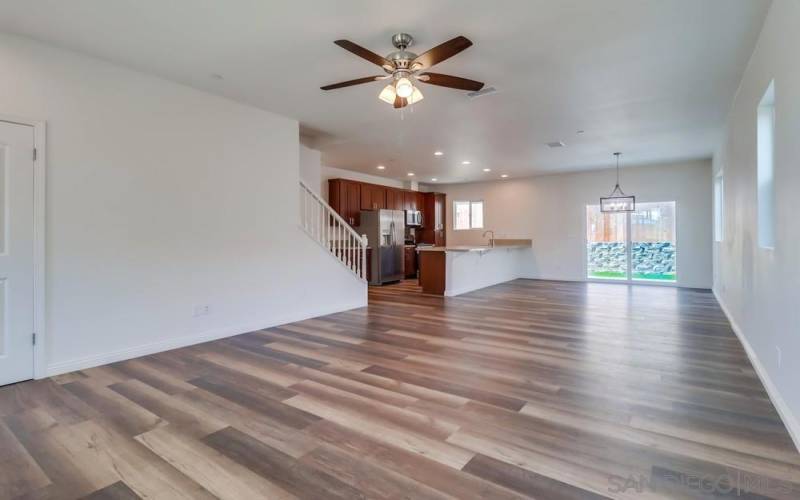
[[[414,281],[368,308],[0,388],[2,498],[800,498],[714,297]]]

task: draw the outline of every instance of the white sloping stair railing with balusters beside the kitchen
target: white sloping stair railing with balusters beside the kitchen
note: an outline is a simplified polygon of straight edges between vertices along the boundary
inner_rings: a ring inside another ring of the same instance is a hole
[[[300,227],[358,279],[367,281],[367,236],[359,235],[300,181]]]

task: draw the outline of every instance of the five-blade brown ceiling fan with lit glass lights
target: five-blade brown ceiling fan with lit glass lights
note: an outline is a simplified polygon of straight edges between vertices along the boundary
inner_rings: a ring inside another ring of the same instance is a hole
[[[334,90],[342,87],[350,87],[352,85],[360,85],[362,83],[391,79],[391,83],[384,87],[380,95],[378,95],[378,98],[393,105],[395,109],[404,108],[409,104],[414,104],[423,99],[422,92],[414,86],[412,80],[425,82],[430,85],[438,85],[440,87],[469,90],[473,92],[483,88],[483,82],[476,82],[475,80],[469,80],[467,78],[443,75],[441,73],[431,73],[428,71],[431,66],[439,64],[445,59],[449,59],[470,47],[472,42],[467,38],[457,36],[420,55],[406,50],[413,42],[414,39],[411,35],[407,33],[398,33],[392,37],[392,45],[394,45],[397,50],[383,57],[350,40],[336,40],[333,43],[380,66],[386,74],[356,78],[355,80],[325,85],[320,88],[322,90]]]

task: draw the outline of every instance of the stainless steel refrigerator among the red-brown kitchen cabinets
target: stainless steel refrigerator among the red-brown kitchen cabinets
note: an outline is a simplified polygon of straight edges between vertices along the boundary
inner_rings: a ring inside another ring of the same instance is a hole
[[[405,212],[403,210],[362,210],[356,229],[367,235],[372,249],[370,285],[400,281],[405,275]]]

